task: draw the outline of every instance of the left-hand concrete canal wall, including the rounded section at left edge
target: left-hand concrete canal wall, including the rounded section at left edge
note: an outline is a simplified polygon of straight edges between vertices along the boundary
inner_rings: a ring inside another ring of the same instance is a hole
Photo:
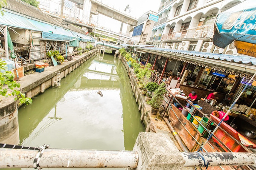
[[[47,88],[57,84],[78,68],[87,59],[93,57],[98,49],[85,52],[82,55],[75,56],[71,61],[64,62],[62,65],[49,67],[49,70],[41,73],[33,73],[20,78],[20,88],[27,97],[34,97],[43,93]],[[2,98],[0,101],[0,143],[19,144],[19,125],[17,102],[14,97]]]

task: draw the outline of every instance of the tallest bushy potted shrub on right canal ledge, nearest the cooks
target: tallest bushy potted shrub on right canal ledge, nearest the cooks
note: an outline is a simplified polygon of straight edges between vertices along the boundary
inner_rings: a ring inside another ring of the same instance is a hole
[[[163,94],[165,93],[166,93],[165,84],[161,83],[161,85],[154,92],[154,96],[152,97],[152,99],[147,102],[149,105],[151,105],[151,111],[150,111],[151,114],[157,114],[157,111],[163,102]]]

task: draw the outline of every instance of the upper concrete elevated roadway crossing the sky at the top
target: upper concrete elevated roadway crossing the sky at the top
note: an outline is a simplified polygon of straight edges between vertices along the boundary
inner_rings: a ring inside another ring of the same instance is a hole
[[[73,3],[77,4],[78,8],[83,9],[84,0],[70,0]],[[111,17],[115,20],[118,20],[122,23],[126,23],[131,26],[136,26],[138,19],[131,17],[125,13],[120,12],[119,10],[116,10],[114,8],[109,7],[108,5],[103,4],[102,2],[99,2],[97,0],[90,0],[92,3],[91,7],[91,14],[99,14],[105,15],[107,17]]]

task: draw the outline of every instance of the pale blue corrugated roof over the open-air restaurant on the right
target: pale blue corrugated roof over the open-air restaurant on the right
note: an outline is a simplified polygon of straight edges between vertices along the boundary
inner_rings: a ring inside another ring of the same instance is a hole
[[[196,57],[204,57],[204,58],[218,59],[218,60],[229,61],[229,62],[256,65],[255,57],[250,57],[245,55],[214,54],[214,53],[206,53],[206,52],[200,52],[200,51],[184,51],[184,50],[173,50],[173,49],[155,48],[155,47],[142,48],[142,49],[172,52],[172,53],[185,54],[185,55],[196,56]]]

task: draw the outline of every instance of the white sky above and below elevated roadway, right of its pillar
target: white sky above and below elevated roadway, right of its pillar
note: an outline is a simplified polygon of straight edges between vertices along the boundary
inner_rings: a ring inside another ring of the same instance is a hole
[[[132,17],[139,18],[142,14],[145,12],[151,10],[154,12],[158,11],[160,1],[161,0],[98,0],[102,1],[103,4],[108,5],[112,8],[115,8],[116,10],[123,11],[125,10],[125,7],[127,5],[130,6],[131,13],[128,13],[128,10],[126,11],[126,14],[131,15]],[[99,14],[99,25],[104,26],[105,28],[110,29],[114,32],[119,32],[121,22],[113,20],[109,17],[105,17],[101,14]],[[126,24],[124,24],[122,32],[126,31]]]

